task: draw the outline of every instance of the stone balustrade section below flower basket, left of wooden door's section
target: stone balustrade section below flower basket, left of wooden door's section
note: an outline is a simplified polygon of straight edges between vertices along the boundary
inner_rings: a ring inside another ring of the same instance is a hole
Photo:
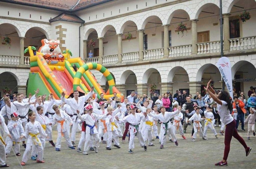
[[[181,45],[181,46],[171,46],[169,49],[169,57],[177,57],[177,56],[187,56],[191,55],[192,45]]]

